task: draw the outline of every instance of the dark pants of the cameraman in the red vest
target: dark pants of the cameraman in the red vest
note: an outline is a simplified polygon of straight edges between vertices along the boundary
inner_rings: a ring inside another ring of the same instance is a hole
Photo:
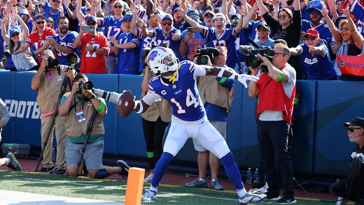
[[[293,198],[293,168],[292,159],[288,153],[289,123],[281,121],[258,120],[258,141],[261,159],[264,164],[268,193],[279,196],[280,185],[278,170],[281,172],[283,197]],[[277,166],[278,164],[278,166]]]

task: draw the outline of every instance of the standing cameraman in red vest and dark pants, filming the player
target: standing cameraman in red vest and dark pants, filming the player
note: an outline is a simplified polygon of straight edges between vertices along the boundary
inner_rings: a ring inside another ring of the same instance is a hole
[[[292,120],[293,101],[296,93],[296,71],[287,65],[290,51],[284,44],[276,44],[272,62],[257,54],[267,66],[257,82],[250,81],[249,96],[259,94],[257,109],[258,141],[269,189],[267,199],[279,204],[294,204],[292,160],[288,153],[288,134]],[[251,75],[258,68],[249,67]],[[280,195],[278,167],[283,180],[283,198]]]

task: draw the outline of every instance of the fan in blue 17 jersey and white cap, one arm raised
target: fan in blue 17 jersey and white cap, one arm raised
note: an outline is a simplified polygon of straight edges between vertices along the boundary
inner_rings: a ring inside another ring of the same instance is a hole
[[[97,1],[98,4],[101,3],[101,1]],[[97,4],[94,2],[91,3],[91,15],[96,16],[95,14],[95,7]],[[116,0],[113,4],[114,16],[109,17],[102,17],[97,18],[98,19],[98,26],[99,27],[105,27],[104,35],[106,36],[107,40],[110,44],[110,53],[108,56],[105,56],[105,63],[106,63],[106,73],[108,74],[114,74],[117,68],[117,63],[119,61],[119,58],[117,54],[114,52],[113,44],[110,41],[111,36],[115,36],[117,39],[119,37],[119,34],[125,32],[121,30],[121,24],[122,24],[122,12],[124,11],[123,1],[122,0]]]

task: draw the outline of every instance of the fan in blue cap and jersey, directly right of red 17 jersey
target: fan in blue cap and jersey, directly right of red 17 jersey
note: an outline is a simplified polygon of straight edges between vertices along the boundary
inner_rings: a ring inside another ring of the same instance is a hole
[[[139,47],[140,40],[130,32],[130,25],[133,16],[126,14],[122,19],[122,26],[125,32],[119,37],[111,37],[111,42],[114,44],[114,51],[119,55],[115,74],[138,74],[139,72]]]

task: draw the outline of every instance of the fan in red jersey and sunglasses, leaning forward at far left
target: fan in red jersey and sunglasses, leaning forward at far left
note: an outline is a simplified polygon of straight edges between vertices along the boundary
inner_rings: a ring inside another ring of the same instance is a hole
[[[40,58],[40,53],[46,49],[48,49],[49,44],[46,39],[51,38],[56,33],[53,29],[47,28],[44,24],[46,22],[46,18],[43,15],[37,15],[34,17],[34,25],[36,30],[29,34],[28,39],[25,41],[23,45],[19,48],[19,50],[15,51],[14,54],[19,54],[21,52],[27,51],[27,54],[30,56],[38,55],[38,61],[42,62]],[[28,51],[30,46],[34,45],[35,51]]]

